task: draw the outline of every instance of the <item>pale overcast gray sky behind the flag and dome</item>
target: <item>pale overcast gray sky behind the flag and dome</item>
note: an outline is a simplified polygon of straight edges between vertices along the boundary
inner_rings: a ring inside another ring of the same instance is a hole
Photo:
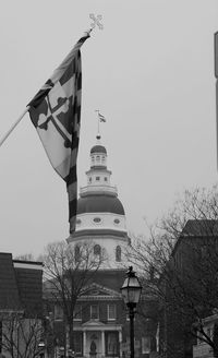
[[[217,182],[215,0],[1,0],[0,134],[62,61],[89,13],[104,16],[82,48],[78,186],[86,183],[100,109],[112,183],[135,234],[175,194]],[[28,115],[0,148],[0,251],[32,252],[69,235],[64,182]]]

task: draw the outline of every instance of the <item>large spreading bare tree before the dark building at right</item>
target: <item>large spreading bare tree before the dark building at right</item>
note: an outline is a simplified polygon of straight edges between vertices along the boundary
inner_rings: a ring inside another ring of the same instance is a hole
[[[146,285],[152,270],[154,295],[168,312],[179,314],[184,334],[206,342],[217,355],[216,339],[203,324],[218,305],[217,186],[186,190],[149,229],[149,238],[132,240],[129,260],[144,273]]]

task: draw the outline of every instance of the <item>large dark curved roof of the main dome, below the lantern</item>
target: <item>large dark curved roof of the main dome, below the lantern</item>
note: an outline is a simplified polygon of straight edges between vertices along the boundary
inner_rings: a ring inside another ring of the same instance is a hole
[[[122,203],[117,196],[88,195],[77,201],[77,214],[85,213],[113,213],[125,215]]]

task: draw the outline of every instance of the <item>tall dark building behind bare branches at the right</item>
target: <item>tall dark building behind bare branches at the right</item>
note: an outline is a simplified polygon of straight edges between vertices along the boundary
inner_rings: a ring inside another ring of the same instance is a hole
[[[218,225],[189,220],[161,277],[160,353],[168,358],[193,357],[196,322],[218,305]],[[201,348],[195,348],[196,350]],[[205,356],[206,357],[206,356]]]

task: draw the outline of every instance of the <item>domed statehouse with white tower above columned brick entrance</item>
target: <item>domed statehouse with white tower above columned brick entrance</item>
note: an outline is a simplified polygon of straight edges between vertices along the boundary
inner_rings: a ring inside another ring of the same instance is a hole
[[[80,246],[89,242],[94,255],[101,255],[104,260],[76,300],[73,354],[84,358],[130,357],[129,312],[120,290],[129,267],[130,238],[123,205],[117,188],[111,184],[107,150],[100,143],[100,135],[90,150],[86,177],[87,184],[80,190],[76,230],[68,238],[68,243],[76,256]],[[135,315],[135,357],[149,357],[152,341],[142,322]],[[55,307],[53,325],[57,351],[64,357],[68,353],[60,307]]]

